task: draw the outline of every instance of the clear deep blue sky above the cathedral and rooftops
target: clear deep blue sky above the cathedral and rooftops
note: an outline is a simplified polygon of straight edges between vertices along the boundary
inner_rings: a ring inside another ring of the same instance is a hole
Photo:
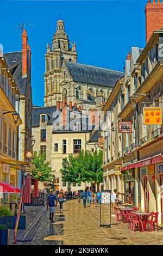
[[[78,63],[123,71],[131,46],[145,46],[147,0],[1,1],[0,44],[4,52],[21,50],[26,27],[32,50],[33,104],[43,106],[46,44],[51,44],[61,14],[70,41],[76,41]]]

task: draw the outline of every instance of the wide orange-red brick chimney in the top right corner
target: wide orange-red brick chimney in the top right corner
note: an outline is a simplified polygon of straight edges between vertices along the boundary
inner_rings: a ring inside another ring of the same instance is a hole
[[[146,15],[146,44],[154,30],[163,28],[163,2],[148,0],[145,7]]]

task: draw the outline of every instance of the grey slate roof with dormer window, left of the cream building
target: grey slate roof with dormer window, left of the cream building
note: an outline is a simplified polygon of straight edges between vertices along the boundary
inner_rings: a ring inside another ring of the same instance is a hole
[[[32,127],[37,127],[40,125],[40,114],[48,114],[51,119],[48,120],[47,124],[52,125],[53,123],[53,112],[56,111],[56,107],[36,107],[32,109]]]

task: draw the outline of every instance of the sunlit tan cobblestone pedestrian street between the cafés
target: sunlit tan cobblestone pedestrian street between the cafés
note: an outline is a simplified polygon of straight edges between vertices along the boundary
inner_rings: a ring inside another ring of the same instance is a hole
[[[64,203],[61,213],[57,207],[54,223],[49,221],[47,211],[39,221],[18,245],[163,245],[162,230],[133,232],[115,218],[112,218],[111,229],[99,227],[99,205],[87,204],[84,209],[77,200]]]

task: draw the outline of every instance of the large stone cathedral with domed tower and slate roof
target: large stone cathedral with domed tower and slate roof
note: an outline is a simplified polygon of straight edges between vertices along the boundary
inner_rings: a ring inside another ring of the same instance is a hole
[[[64,21],[45,53],[45,107],[64,99],[82,109],[101,108],[123,72],[77,63],[76,43],[68,40]]]

